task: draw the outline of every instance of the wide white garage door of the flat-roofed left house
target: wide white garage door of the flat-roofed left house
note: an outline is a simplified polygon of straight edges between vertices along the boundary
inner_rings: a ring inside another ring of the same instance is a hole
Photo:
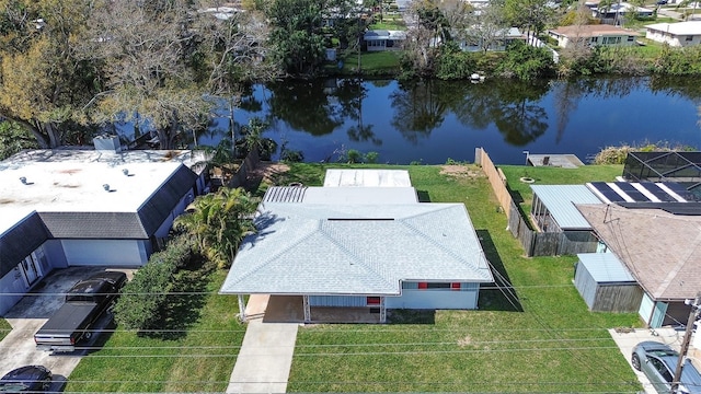
[[[141,266],[147,240],[61,240],[69,266]]]

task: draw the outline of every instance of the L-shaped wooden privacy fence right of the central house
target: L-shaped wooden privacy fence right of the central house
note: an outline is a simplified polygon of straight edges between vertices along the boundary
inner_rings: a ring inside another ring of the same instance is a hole
[[[531,230],[512,198],[512,194],[506,186],[506,176],[502,170],[494,165],[484,149],[475,148],[474,163],[482,166],[482,171],[490,181],[496,199],[506,213],[508,220],[507,230],[524,246],[526,256],[556,256],[596,252],[597,243],[590,231],[538,232]]]

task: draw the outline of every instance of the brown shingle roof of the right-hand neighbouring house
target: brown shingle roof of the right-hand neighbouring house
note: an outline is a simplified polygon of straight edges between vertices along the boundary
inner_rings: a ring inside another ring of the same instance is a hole
[[[577,208],[655,300],[694,298],[701,290],[701,216],[617,205]]]

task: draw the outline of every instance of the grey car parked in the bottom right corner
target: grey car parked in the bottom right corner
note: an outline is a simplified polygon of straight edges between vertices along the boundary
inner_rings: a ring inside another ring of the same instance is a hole
[[[669,346],[653,340],[642,341],[633,348],[631,363],[645,373],[658,393],[668,394],[675,375],[679,354]],[[685,360],[678,393],[701,394],[701,373],[689,359]]]

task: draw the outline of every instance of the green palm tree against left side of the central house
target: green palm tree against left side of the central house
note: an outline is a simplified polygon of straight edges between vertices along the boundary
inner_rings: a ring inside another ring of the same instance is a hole
[[[175,219],[174,227],[195,239],[202,255],[227,267],[243,237],[255,232],[253,213],[257,199],[242,188],[222,187],[217,193],[199,196],[189,212]]]

